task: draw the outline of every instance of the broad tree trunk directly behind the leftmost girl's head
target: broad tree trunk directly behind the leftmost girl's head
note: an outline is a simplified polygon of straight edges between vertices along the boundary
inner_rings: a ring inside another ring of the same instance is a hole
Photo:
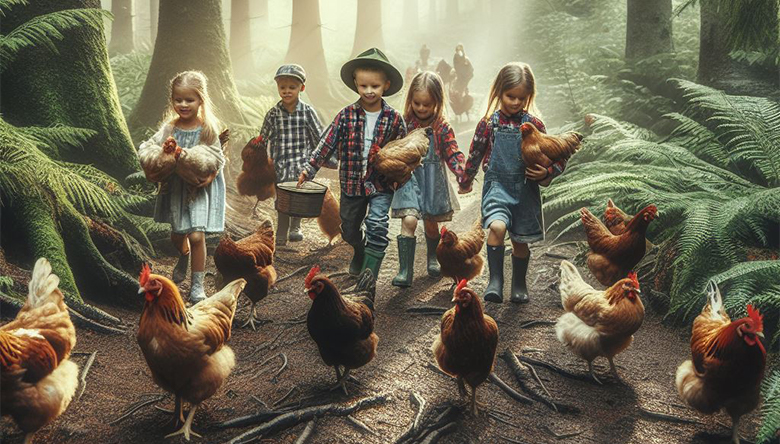
[[[170,101],[171,79],[187,70],[208,77],[209,96],[221,121],[243,123],[222,25],[222,2],[161,1],[157,37],[146,83],[128,119],[136,139],[157,129]]]

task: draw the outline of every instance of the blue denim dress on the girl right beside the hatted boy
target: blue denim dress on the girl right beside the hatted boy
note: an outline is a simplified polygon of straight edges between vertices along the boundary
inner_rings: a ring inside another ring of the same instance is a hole
[[[395,192],[392,209],[394,216],[398,210],[413,209],[422,219],[439,220],[441,216],[451,216],[450,189],[446,171],[439,153],[433,143],[434,135],[428,136],[428,153],[422,165],[412,173],[412,178]],[[419,217],[418,217],[419,218]]]

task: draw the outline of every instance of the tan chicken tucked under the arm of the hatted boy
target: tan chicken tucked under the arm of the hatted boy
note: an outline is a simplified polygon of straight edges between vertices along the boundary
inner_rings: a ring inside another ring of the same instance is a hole
[[[430,133],[430,128],[417,128],[403,139],[393,140],[384,148],[373,151],[369,163],[398,189],[412,178],[414,169],[422,165],[422,158],[428,153]]]

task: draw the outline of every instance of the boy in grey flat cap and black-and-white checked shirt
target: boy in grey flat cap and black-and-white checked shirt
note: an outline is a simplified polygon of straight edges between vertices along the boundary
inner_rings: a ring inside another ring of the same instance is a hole
[[[265,115],[260,135],[271,144],[276,183],[297,180],[322,134],[320,118],[311,105],[298,99],[306,89],[306,71],[300,65],[282,65],[276,71],[281,100]],[[277,213],[276,245],[303,240],[301,218]],[[289,229],[289,237],[288,237]]]

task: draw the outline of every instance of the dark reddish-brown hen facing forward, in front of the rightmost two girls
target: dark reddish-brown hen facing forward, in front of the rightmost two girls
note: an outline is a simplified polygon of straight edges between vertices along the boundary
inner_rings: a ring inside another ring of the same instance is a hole
[[[441,334],[431,351],[436,363],[448,375],[457,378],[461,396],[464,382],[471,387],[471,413],[477,414],[477,387],[493,371],[498,346],[498,325],[482,311],[482,302],[474,290],[458,283],[452,296],[455,306],[441,317]]]

